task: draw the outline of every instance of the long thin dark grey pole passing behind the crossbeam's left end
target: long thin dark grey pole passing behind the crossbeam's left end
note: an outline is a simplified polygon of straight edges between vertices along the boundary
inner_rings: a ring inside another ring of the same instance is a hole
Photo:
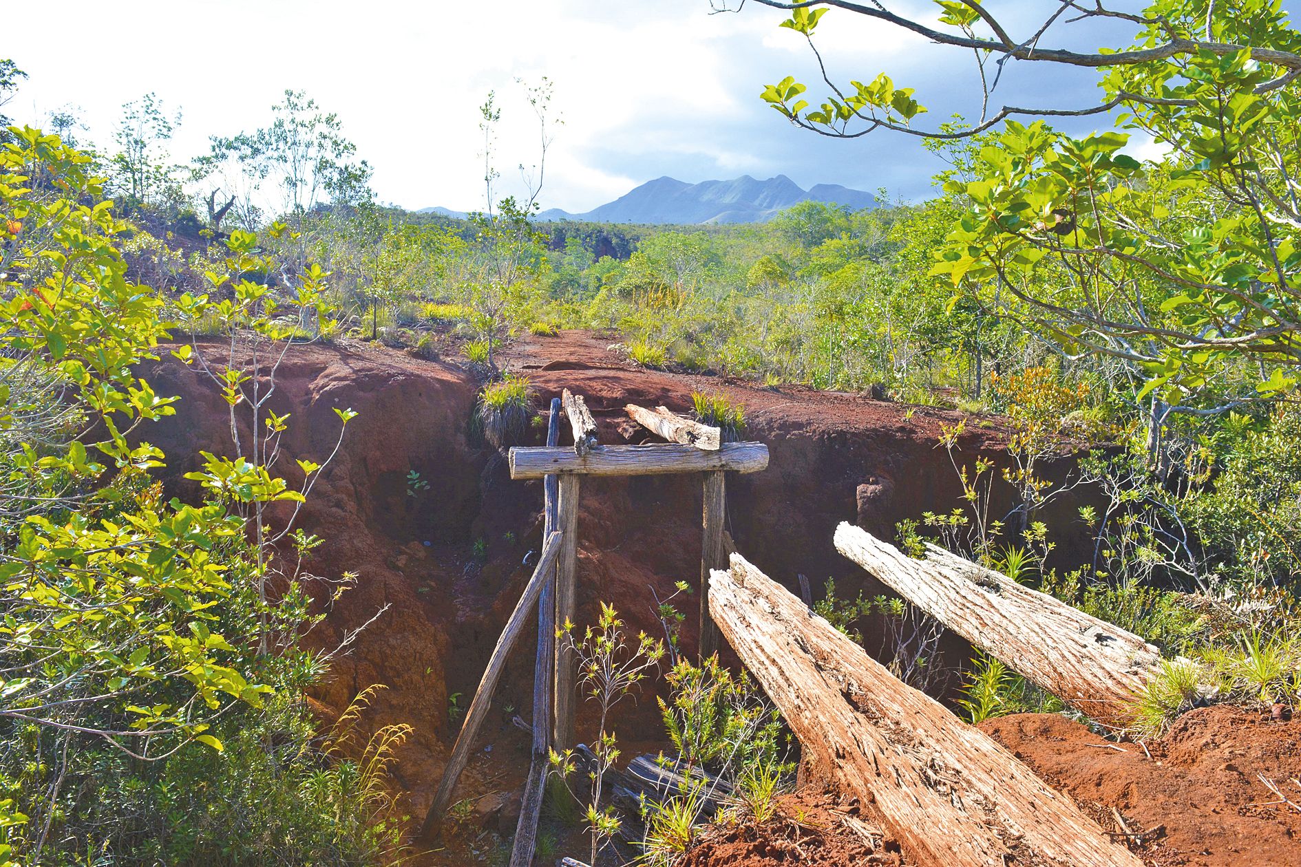
[[[561,437],[561,399],[552,398],[550,417],[546,424],[546,445],[554,446]],[[543,538],[550,538],[559,519],[559,477],[548,476],[543,482]],[[533,668],[533,755],[524,783],[519,822],[515,823],[515,841],[510,850],[510,867],[530,867],[537,850],[537,822],[543,812],[543,794],[546,789],[546,771],[550,768],[548,750],[552,742],[552,690],[556,689],[556,568],[543,582],[537,594],[537,662]]]

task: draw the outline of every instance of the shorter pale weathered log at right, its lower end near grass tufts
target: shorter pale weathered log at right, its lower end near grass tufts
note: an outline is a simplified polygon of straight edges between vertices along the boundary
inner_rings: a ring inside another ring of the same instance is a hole
[[[928,546],[915,560],[857,526],[835,547],[895,593],[1028,681],[1107,725],[1133,721],[1133,698],[1160,664],[1138,636],[1046,593]]]

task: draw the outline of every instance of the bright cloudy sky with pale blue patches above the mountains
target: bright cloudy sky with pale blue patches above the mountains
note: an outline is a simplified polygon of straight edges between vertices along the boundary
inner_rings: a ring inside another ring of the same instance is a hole
[[[1029,31],[1030,16],[1056,5],[1019,0],[1013,23],[1020,17]],[[890,8],[934,16],[924,0]],[[661,175],[693,183],[786,174],[805,188],[840,183],[917,200],[943,168],[911,136],[826,139],[765,105],[764,86],[787,74],[817,96],[825,88],[813,86],[803,36],[778,26],[787,13],[755,3],[712,14],[709,0],[64,0],[57,30],[22,22],[36,4],[21,9],[13,32],[44,35],[0,42],[0,56],[29,74],[5,107],[16,121],[40,125],[70,107],[81,136],[107,147],[122,104],[152,91],[181,110],[169,149],[183,162],[207,151],[208,135],[264,126],[286,88],[304,90],[338,113],[375,169],[376,196],[411,209],[484,207],[477,107],[489,91],[502,110],[498,188],[522,188],[516,166],[537,162],[539,130],[516,79],[543,75],[563,121],[546,157],[544,208],[584,212]],[[1058,42],[1094,48],[1107,34],[1075,26]],[[818,47],[833,78],[885,71],[915,87],[930,109],[924,122],[980,113],[969,52],[839,9],[824,17]],[[1099,100],[1088,70],[1008,66],[999,104]]]

